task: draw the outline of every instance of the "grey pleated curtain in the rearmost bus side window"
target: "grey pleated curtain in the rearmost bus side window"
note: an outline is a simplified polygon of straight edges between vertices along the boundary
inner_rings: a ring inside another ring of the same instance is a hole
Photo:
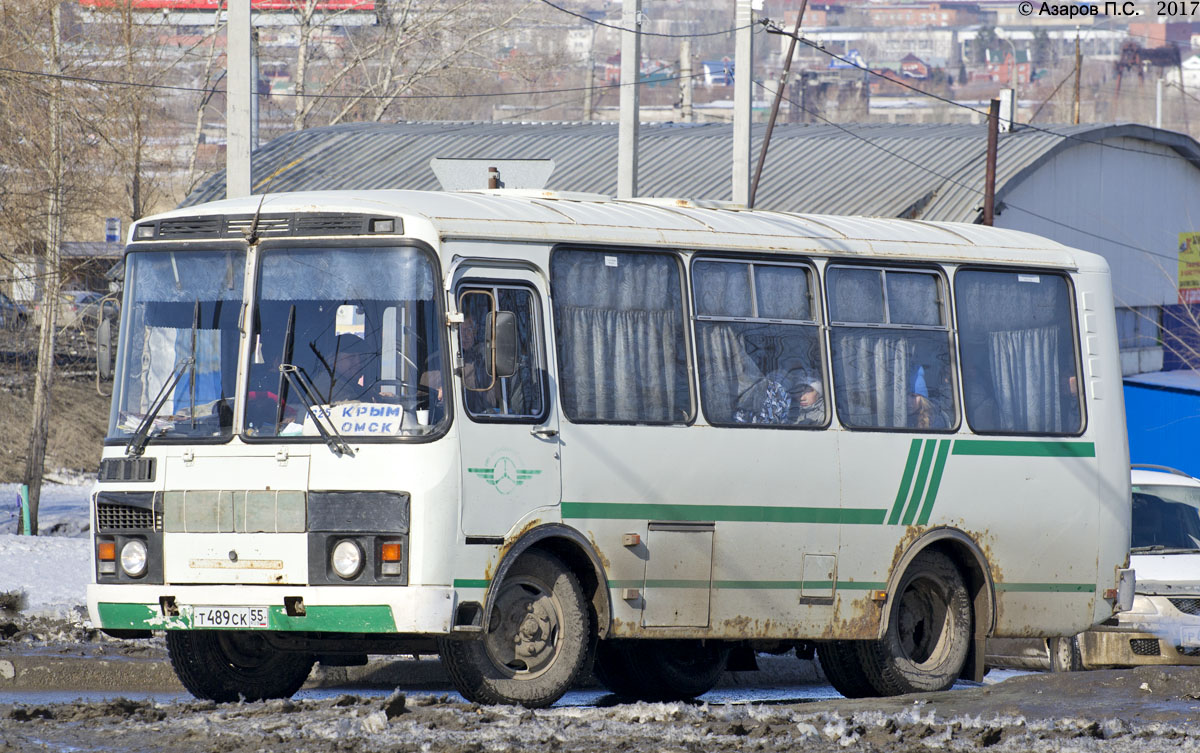
[[[1001,430],[1060,433],[1075,428],[1063,424],[1067,387],[1058,360],[1058,327],[991,332],[989,345]]]

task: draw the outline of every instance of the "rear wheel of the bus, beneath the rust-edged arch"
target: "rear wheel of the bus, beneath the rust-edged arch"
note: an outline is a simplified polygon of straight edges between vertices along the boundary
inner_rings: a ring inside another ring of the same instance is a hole
[[[962,574],[940,552],[918,554],[892,602],[882,640],[859,656],[880,695],[944,691],[962,673],[971,647],[971,598]]]

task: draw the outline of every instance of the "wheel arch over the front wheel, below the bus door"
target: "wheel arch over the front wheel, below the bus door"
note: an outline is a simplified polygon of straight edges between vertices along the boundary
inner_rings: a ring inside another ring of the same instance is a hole
[[[612,625],[612,606],[604,560],[600,559],[595,547],[583,534],[562,523],[547,523],[528,530],[504,553],[500,564],[496,567],[496,574],[492,576],[484,602],[484,632],[486,633],[488,629],[492,607],[496,603],[497,594],[499,594],[497,586],[504,582],[504,577],[521,555],[530,549],[541,549],[553,554],[575,573],[580,579],[584,598],[592,604],[596,634],[599,638],[606,638]]]

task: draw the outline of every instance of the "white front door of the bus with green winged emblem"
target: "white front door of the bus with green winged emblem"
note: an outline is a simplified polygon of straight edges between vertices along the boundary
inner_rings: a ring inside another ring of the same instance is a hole
[[[455,282],[462,531],[505,536],[557,507],[562,493],[545,281],[527,269],[464,265]]]

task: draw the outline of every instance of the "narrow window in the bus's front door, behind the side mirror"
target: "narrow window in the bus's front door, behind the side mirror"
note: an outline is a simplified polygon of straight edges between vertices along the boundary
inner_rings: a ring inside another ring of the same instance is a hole
[[[545,414],[538,300],[528,288],[458,290],[463,403],[485,420],[536,421]],[[438,386],[440,390],[440,386]]]

